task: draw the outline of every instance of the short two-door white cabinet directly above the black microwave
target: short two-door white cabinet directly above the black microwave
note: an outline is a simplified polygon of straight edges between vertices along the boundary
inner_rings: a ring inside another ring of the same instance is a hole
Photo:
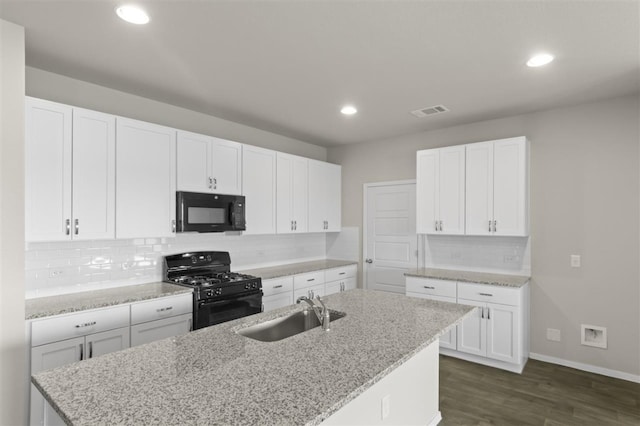
[[[242,193],[242,144],[178,131],[179,191]]]

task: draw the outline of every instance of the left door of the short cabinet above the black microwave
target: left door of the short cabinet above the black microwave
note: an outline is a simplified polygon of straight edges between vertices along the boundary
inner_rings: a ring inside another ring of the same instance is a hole
[[[176,145],[178,191],[211,192],[211,138],[196,133],[178,131]]]

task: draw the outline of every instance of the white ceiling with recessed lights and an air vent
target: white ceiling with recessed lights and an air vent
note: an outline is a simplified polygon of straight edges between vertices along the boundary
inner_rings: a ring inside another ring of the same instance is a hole
[[[637,1],[137,1],[146,26],[120,3],[0,0],[0,18],[29,66],[324,146],[639,89]],[[526,67],[539,51],[556,60]]]

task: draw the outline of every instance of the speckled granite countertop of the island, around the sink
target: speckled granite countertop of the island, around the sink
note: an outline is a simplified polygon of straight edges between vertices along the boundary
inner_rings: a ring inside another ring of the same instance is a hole
[[[362,289],[325,298],[346,312],[277,341],[236,331],[288,306],[54,370],[32,382],[72,425],[316,425],[475,308]]]

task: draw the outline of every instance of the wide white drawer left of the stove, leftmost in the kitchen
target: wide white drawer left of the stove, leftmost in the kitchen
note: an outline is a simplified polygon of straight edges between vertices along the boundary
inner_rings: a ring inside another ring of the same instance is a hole
[[[31,346],[129,327],[129,305],[60,315],[31,323]]]

